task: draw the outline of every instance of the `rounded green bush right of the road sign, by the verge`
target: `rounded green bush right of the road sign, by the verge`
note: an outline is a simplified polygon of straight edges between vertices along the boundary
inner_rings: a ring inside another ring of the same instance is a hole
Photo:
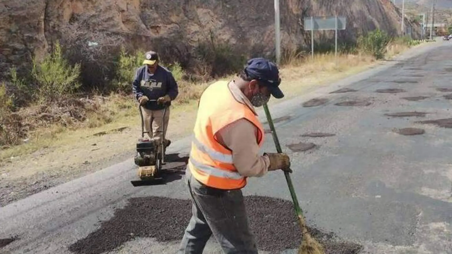
[[[358,48],[362,52],[372,54],[376,59],[382,59],[386,54],[386,47],[390,41],[391,38],[386,32],[377,29],[367,33],[365,36],[360,36],[358,38]]]

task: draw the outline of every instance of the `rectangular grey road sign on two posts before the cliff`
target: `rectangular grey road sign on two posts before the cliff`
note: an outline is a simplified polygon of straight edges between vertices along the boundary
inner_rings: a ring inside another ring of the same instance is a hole
[[[338,30],[345,30],[347,19],[343,16],[306,17],[305,31],[311,31],[311,55],[314,60],[314,30],[334,30],[336,65],[338,65]]]

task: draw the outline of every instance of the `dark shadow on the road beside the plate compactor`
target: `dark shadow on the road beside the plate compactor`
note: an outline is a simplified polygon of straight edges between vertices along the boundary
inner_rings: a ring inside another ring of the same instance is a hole
[[[188,164],[188,156],[179,156],[179,154],[167,154],[165,156],[165,165],[158,173],[155,179],[151,180],[134,180],[131,181],[132,185],[137,186],[150,186],[150,185],[163,185],[176,180],[182,179],[185,174],[185,169]]]

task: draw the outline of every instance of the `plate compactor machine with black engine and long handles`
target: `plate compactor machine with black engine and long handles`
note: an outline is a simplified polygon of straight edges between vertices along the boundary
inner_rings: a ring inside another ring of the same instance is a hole
[[[155,101],[155,100],[150,100]],[[141,138],[137,142],[137,152],[135,154],[135,165],[138,166],[138,177],[141,180],[152,180],[158,178],[158,174],[165,164],[165,150],[167,142],[165,138],[145,137],[144,119],[141,106],[138,106],[141,116]],[[166,108],[163,109],[163,118],[165,119]],[[165,133],[165,125],[163,126]]]

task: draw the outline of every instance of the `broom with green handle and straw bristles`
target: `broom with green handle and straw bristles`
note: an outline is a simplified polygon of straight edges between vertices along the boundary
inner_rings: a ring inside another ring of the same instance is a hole
[[[272,132],[273,141],[275,142],[276,151],[278,153],[282,153],[281,146],[279,145],[278,136],[276,136],[275,127],[273,125],[273,120],[270,115],[270,111],[268,110],[268,106],[265,103],[264,104],[264,111],[265,115],[267,117],[268,125],[270,126],[270,130]],[[298,216],[300,227],[301,227],[301,246],[300,249],[298,249],[298,254],[325,254],[325,251],[314,238],[311,237],[309,234],[307,228],[306,228],[306,221],[303,216],[303,212],[301,211],[300,205],[298,204],[297,195],[295,194],[295,189],[292,185],[292,180],[290,178],[289,172],[284,171],[284,176],[286,177],[287,185],[289,187],[290,195],[292,196],[293,205],[295,208],[295,213]]]

